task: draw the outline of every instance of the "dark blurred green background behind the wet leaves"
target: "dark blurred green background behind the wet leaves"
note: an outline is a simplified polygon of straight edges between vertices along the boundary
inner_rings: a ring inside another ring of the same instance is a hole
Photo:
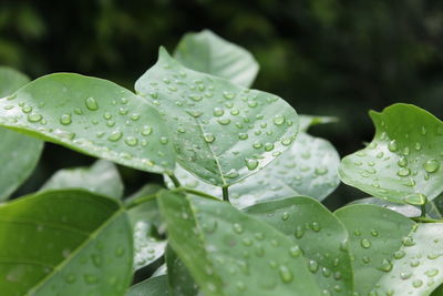
[[[256,89],[280,95],[299,113],[334,115],[316,126],[341,156],[370,141],[368,110],[394,102],[443,113],[443,1],[151,0],[2,1],[0,64],[32,79],[79,72],[133,89],[188,31],[208,28],[251,51],[261,65]],[[92,159],[49,144],[33,181]],[[128,192],[157,176],[120,167]],[[334,207],[363,196],[341,185]]]

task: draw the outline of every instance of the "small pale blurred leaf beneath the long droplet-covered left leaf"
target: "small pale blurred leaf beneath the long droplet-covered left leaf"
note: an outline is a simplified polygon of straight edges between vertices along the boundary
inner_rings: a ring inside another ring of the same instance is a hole
[[[107,161],[96,161],[91,167],[60,170],[41,190],[83,188],[109,197],[123,196],[123,181],[119,170]]]

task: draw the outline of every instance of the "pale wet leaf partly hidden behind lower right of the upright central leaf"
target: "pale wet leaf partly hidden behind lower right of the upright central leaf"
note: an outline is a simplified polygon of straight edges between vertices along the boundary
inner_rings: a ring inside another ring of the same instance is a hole
[[[340,183],[337,169],[340,156],[326,140],[300,133],[293,145],[260,172],[229,187],[230,202],[237,207],[295,195],[322,201]],[[219,187],[203,183],[179,165],[175,175],[182,185],[222,198]],[[165,176],[168,187],[173,187]]]

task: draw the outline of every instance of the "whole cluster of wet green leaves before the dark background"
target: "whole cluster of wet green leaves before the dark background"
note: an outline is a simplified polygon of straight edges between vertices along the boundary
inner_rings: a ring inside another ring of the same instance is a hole
[[[136,93],[0,70],[11,134],[0,150],[25,149],[3,159],[13,182],[0,197],[32,172],[41,141],[102,159],[0,206],[2,293],[441,295],[441,121],[408,104],[371,112],[374,140],[340,163],[308,133],[334,119],[248,89],[258,67],[246,50],[203,31],[174,57],[161,48]],[[112,162],[167,188],[127,196]],[[320,202],[339,177],[371,197],[332,213]]]

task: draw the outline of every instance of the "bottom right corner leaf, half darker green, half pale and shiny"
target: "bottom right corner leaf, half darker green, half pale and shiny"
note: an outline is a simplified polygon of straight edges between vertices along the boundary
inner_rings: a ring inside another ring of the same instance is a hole
[[[443,282],[442,223],[416,224],[364,204],[336,215],[349,233],[359,295],[429,295]]]

